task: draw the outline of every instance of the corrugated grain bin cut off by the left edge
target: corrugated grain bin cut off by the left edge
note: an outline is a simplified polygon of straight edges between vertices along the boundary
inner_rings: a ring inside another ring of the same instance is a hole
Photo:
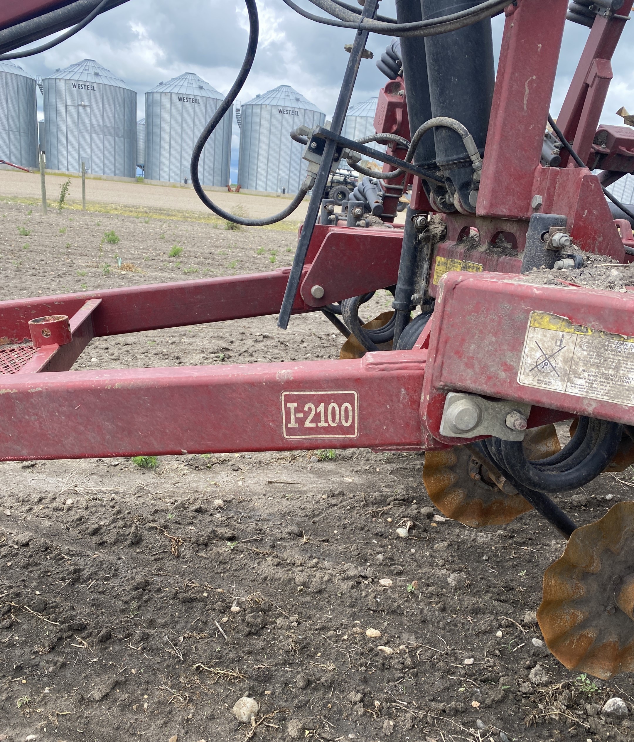
[[[13,62],[0,62],[0,160],[39,163],[36,81]]]

